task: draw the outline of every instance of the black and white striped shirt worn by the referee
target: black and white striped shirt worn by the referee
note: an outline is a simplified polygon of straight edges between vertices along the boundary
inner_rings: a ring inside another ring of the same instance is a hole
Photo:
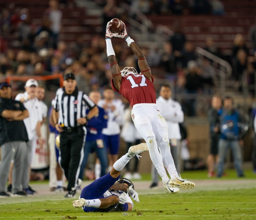
[[[92,109],[94,102],[81,91],[76,90],[68,95],[65,89],[58,89],[56,92],[54,109],[59,112],[58,124],[64,124],[65,127],[76,127],[76,119],[86,116],[86,109]]]

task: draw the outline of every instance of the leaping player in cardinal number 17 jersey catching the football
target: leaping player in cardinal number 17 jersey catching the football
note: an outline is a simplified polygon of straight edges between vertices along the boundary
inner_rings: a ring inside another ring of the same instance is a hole
[[[170,193],[179,192],[178,187],[191,189],[195,184],[182,179],[176,171],[170,151],[167,124],[156,105],[154,79],[148,62],[138,45],[128,36],[124,23],[123,25],[124,29],[120,34],[112,33],[109,29],[109,23],[106,29],[107,56],[112,75],[111,86],[131,104],[132,120],[148,145],[150,158],[162,178],[164,187]],[[133,67],[125,67],[120,70],[111,43],[113,36],[123,38],[138,57],[140,73]]]

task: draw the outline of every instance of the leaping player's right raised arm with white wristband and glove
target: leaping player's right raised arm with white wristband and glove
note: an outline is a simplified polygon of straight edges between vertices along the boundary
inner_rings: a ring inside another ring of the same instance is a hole
[[[147,62],[143,52],[138,47],[138,45],[134,42],[134,40],[130,38],[130,36],[127,33],[124,22],[122,22],[122,23],[124,26],[123,32],[118,35],[115,35],[115,37],[123,38],[127,42],[127,45],[129,47],[131,47],[133,53],[138,57],[138,65],[139,65],[141,73],[152,82],[151,70],[149,68],[148,62]]]

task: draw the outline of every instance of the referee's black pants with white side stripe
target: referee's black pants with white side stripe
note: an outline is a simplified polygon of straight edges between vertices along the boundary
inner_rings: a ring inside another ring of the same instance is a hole
[[[84,157],[85,135],[84,132],[79,133],[77,131],[60,133],[60,165],[68,180],[68,191],[75,188],[77,184],[80,165]]]

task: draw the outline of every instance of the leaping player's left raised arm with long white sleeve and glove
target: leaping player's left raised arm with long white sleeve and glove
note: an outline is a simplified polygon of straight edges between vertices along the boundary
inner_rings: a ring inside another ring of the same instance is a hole
[[[119,65],[117,64],[117,61],[116,61],[115,51],[114,51],[112,43],[111,43],[111,38],[113,36],[117,35],[117,34],[113,34],[110,31],[109,27],[110,27],[110,25],[109,25],[109,22],[108,22],[107,29],[106,29],[106,38],[105,38],[106,45],[107,45],[107,56],[108,56],[109,66],[110,66],[111,75],[112,75],[112,79],[113,79],[115,88],[119,91],[122,76],[121,76],[120,67],[119,67]]]

